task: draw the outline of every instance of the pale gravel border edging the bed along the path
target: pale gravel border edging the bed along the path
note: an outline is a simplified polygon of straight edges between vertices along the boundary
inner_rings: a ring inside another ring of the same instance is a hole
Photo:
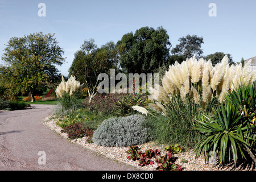
[[[72,143],[77,143],[82,147],[89,148],[90,150],[93,150],[97,152],[98,154],[105,155],[108,158],[119,160],[121,162],[127,163],[129,165],[138,167],[139,162],[138,161],[132,161],[128,160],[127,156],[129,154],[126,153],[127,150],[129,150],[130,147],[104,147],[104,146],[98,146],[94,143],[87,143],[86,139],[88,137],[78,138],[78,139],[69,139],[68,135],[66,133],[61,133],[61,127],[56,125],[57,119],[55,119],[55,115],[49,115],[46,117],[43,121],[43,124],[48,126],[49,129],[55,131],[57,134],[59,134],[61,137],[70,140]],[[144,143],[141,145],[138,145],[139,148],[141,148],[141,151],[145,151],[147,149],[159,149],[161,151],[161,155],[164,155],[163,153],[164,147],[163,146],[156,146],[154,143]],[[181,152],[180,154],[175,154],[174,156],[177,157],[176,164],[179,164],[183,167],[183,171],[230,171],[232,170],[233,166],[227,166],[227,167],[221,167],[213,164],[205,164],[204,157],[201,155],[198,159],[195,159],[195,155],[192,154],[193,151],[188,152]],[[184,161],[187,160],[187,163],[184,163]],[[155,171],[157,167],[157,164],[154,163],[152,165],[139,167],[142,170],[145,171]],[[249,168],[242,169],[242,166],[234,168],[234,171],[248,171]]]

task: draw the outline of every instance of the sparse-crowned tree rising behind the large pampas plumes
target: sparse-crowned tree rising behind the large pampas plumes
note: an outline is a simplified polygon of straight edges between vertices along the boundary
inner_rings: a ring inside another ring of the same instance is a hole
[[[180,43],[177,44],[176,47],[172,48],[171,53],[185,56],[185,58],[190,58],[193,57],[193,55],[196,55],[197,59],[203,53],[203,49],[201,49],[201,44],[204,43],[203,37],[187,35],[180,38],[179,42]]]

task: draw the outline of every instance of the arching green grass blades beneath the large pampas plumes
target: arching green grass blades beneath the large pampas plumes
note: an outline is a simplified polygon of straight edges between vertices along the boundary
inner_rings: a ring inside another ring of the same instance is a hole
[[[150,139],[159,144],[180,143],[184,149],[193,148],[201,138],[199,131],[194,128],[195,119],[201,113],[200,106],[189,98],[183,101],[177,96],[161,107],[150,103],[147,108],[154,115],[149,115],[146,122],[150,128]],[[160,109],[159,113],[152,108]],[[160,114],[163,110],[165,114]]]

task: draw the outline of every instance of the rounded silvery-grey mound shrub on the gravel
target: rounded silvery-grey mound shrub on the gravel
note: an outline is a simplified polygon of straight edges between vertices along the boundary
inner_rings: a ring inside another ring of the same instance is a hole
[[[93,142],[106,147],[134,146],[147,142],[142,115],[112,117],[104,120],[93,134]]]

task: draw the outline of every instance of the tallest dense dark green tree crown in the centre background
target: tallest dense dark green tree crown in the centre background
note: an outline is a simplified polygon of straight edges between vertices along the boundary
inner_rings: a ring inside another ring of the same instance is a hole
[[[166,63],[171,43],[163,27],[142,27],[117,42],[120,65],[127,73],[152,73]]]

